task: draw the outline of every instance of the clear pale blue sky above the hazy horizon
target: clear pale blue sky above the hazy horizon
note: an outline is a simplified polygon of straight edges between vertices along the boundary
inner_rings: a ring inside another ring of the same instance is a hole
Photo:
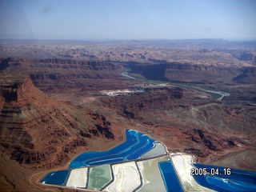
[[[256,0],[0,0],[0,38],[255,39]]]

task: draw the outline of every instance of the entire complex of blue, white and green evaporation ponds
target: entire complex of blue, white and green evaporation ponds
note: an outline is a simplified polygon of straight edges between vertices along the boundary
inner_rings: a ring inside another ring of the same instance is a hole
[[[202,175],[191,175],[191,170]],[[219,170],[219,175],[216,171]],[[106,151],[85,152],[67,170],[46,174],[50,186],[98,191],[255,191],[256,173],[194,162],[191,154],[169,154],[161,142],[137,130],[126,130],[126,141]],[[201,171],[201,172],[200,172]],[[214,175],[212,175],[214,173]]]

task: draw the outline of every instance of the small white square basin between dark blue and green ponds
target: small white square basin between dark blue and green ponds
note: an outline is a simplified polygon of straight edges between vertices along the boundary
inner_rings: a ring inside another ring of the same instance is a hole
[[[87,168],[71,170],[66,186],[86,187],[87,170]]]

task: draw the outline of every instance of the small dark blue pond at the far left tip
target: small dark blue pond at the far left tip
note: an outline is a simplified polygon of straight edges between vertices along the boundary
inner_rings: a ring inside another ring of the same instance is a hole
[[[48,185],[64,186],[69,170],[57,170],[46,174],[40,182]]]

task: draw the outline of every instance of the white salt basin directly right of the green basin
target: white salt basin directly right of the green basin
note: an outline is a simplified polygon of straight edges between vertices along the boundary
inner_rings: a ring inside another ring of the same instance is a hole
[[[104,191],[130,192],[140,184],[140,174],[135,162],[119,163],[112,166],[114,182],[107,186]]]

